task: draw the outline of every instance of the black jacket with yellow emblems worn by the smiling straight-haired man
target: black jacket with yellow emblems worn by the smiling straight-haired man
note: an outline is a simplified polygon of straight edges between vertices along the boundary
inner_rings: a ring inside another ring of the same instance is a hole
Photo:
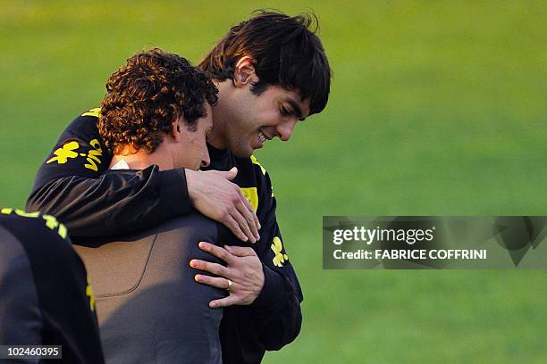
[[[112,154],[97,130],[100,109],[84,112],[63,131],[41,165],[27,211],[55,215],[72,239],[120,236],[192,211],[184,170],[148,167],[134,175],[104,173]],[[260,241],[251,246],[263,263],[265,285],[249,306],[224,310],[220,337],[224,363],[257,363],[266,350],[292,342],[302,321],[302,293],[275,218],[275,198],[256,158],[239,158],[209,145],[206,170],[238,168],[233,181],[257,211]]]

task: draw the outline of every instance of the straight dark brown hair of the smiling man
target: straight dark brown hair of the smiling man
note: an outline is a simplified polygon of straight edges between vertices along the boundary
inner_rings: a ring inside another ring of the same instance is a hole
[[[283,12],[259,10],[248,21],[232,27],[207,54],[198,68],[213,79],[233,79],[236,62],[247,55],[253,60],[260,95],[267,85],[298,90],[310,99],[310,114],[322,112],[329,99],[332,71],[314,13],[290,17]]]

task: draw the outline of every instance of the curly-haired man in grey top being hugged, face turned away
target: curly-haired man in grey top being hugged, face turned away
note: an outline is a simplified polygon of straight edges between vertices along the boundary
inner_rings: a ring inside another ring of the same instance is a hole
[[[106,174],[136,178],[149,167],[209,164],[206,135],[217,89],[184,58],[157,48],[135,54],[108,79],[106,91],[98,123],[114,153]],[[107,362],[222,362],[223,310],[208,302],[226,291],[197,285],[189,261],[208,258],[197,241],[229,244],[230,236],[192,212],[138,234],[74,245],[95,289]]]

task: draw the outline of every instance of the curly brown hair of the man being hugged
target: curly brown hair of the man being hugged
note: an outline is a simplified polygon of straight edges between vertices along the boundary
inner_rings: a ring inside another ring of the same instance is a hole
[[[110,76],[106,92],[98,123],[105,145],[114,153],[126,145],[154,153],[175,118],[182,116],[195,131],[218,90],[186,59],[154,48],[130,57]]]

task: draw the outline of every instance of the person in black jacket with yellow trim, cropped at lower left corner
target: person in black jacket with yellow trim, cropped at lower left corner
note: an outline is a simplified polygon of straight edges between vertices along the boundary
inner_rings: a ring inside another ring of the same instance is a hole
[[[20,354],[21,345],[61,345],[40,353],[104,363],[93,291],[66,227],[39,212],[0,209],[0,252],[0,345]]]

